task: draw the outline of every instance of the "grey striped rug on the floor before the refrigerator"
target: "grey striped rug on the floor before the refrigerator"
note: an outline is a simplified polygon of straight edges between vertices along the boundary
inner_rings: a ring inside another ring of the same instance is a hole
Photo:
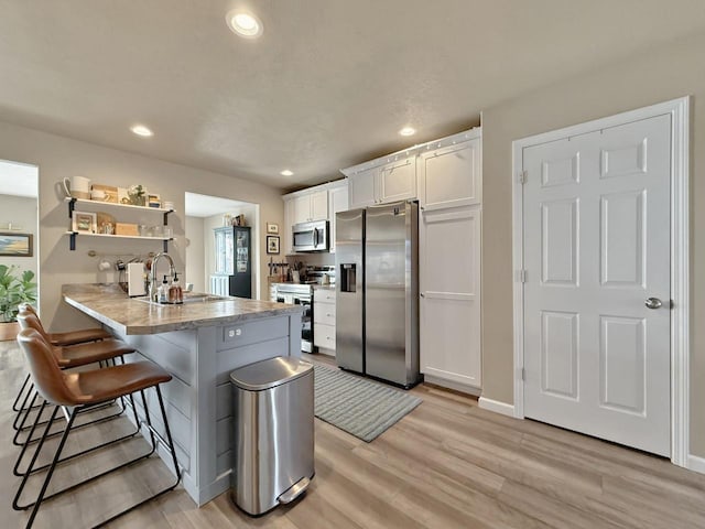
[[[314,365],[314,414],[368,443],[421,403],[399,389]]]

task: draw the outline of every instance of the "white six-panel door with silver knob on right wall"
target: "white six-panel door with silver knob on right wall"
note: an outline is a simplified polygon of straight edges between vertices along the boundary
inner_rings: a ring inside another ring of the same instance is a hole
[[[522,153],[524,414],[661,455],[670,142],[664,115]]]

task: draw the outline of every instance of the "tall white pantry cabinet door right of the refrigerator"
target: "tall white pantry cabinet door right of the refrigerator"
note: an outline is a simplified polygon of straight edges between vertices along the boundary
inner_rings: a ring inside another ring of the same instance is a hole
[[[480,209],[422,212],[419,261],[421,373],[480,388]]]

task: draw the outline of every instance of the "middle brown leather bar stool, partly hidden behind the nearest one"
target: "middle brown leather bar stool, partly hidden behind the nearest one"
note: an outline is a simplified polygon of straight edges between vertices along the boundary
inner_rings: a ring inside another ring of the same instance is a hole
[[[18,314],[18,322],[20,323],[20,326],[23,330],[24,328],[35,330],[42,336],[44,342],[47,345],[50,344],[50,336],[44,331],[44,327],[42,326],[40,320],[36,317],[35,314],[32,314],[28,311],[20,312]],[[107,339],[101,339],[100,342],[91,342],[87,344],[78,344],[78,345],[65,346],[65,347],[58,347],[53,345],[48,345],[48,346],[51,347],[51,350],[56,358],[56,363],[62,369],[87,366],[94,363],[107,364],[108,360],[112,360],[115,365],[115,358],[122,358],[123,355],[135,352],[134,347],[116,338],[107,338]],[[32,396],[32,400],[30,401],[30,404],[28,407],[26,402],[30,396]],[[22,406],[20,407],[18,414],[14,419],[14,422],[12,424],[12,427],[15,430],[15,434],[12,442],[18,446],[23,445],[26,442],[32,442],[31,435],[28,436],[28,439],[24,442],[21,442],[20,433],[29,429],[29,427],[26,427],[25,423],[30,415],[30,412],[33,409],[36,409],[35,402],[37,398],[39,398],[37,393],[33,391],[33,385],[30,384],[29,390],[24,397]],[[107,418],[101,418],[100,420],[102,421],[111,417],[117,417],[121,414],[122,411],[124,411],[124,407],[118,413]]]

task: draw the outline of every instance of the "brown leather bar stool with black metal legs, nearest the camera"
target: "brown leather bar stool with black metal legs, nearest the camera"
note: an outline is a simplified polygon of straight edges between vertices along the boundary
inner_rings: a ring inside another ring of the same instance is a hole
[[[30,508],[32,509],[32,512],[25,526],[28,529],[31,528],[34,523],[34,519],[36,518],[36,514],[43,501],[54,498],[65,492],[73,490],[119,468],[123,468],[128,465],[137,463],[138,461],[151,456],[156,451],[158,441],[162,443],[170,452],[172,463],[174,465],[176,481],[172,485],[154,493],[149,498],[145,498],[138,504],[118,512],[117,515],[111,516],[108,520],[102,521],[100,525],[105,525],[109,521],[115,520],[119,516],[133,510],[134,508],[145,504],[147,501],[150,501],[170,490],[173,490],[176,485],[178,485],[178,482],[181,481],[181,471],[178,468],[178,462],[176,461],[176,451],[174,450],[174,443],[166,419],[166,411],[164,409],[164,400],[160,390],[161,384],[167,382],[172,379],[169,373],[149,361],[123,364],[90,371],[67,373],[63,371],[58,367],[54,354],[52,353],[51,346],[43,339],[42,335],[36,330],[25,328],[21,331],[18,335],[18,343],[28,357],[30,373],[32,375],[32,379],[34,380],[34,385],[40,395],[44,398],[44,403],[42,404],[42,407],[44,408],[47,404],[54,407],[51,419],[44,429],[37,449],[32,456],[32,461],[30,462],[29,472],[23,476],[12,501],[12,508],[15,510],[26,510]],[[149,388],[154,388],[156,391],[156,397],[162,413],[162,420],[164,422],[164,432],[166,435],[166,440],[164,440],[160,435],[160,433],[152,427],[149,407],[147,406],[147,398],[144,396],[144,390]],[[51,495],[46,495],[46,489],[52,479],[52,475],[54,474],[54,469],[56,468],[56,465],[62,462],[61,454],[64,450],[69,433],[73,431],[73,424],[77,413],[82,410],[99,406],[104,402],[115,400],[120,397],[132,396],[132,393],[135,393],[138,391],[142,397],[147,420],[147,423],[139,421],[139,419],[137,419],[135,410],[138,429],[140,428],[140,425],[148,428],[150,432],[151,450],[147,454],[139,455],[138,457],[134,457],[127,463],[122,463],[96,476],[65,487]],[[68,420],[66,422],[64,431],[62,432],[62,439],[58,443],[58,447],[54,453],[52,463],[47,467],[46,476],[36,499],[30,504],[20,505],[19,501],[22,492],[24,490],[28,478],[32,473],[34,465],[36,464],[37,456],[42,447],[44,446],[46,434],[48,433],[50,428],[56,419],[59,408],[64,410],[64,413],[66,414]]]

